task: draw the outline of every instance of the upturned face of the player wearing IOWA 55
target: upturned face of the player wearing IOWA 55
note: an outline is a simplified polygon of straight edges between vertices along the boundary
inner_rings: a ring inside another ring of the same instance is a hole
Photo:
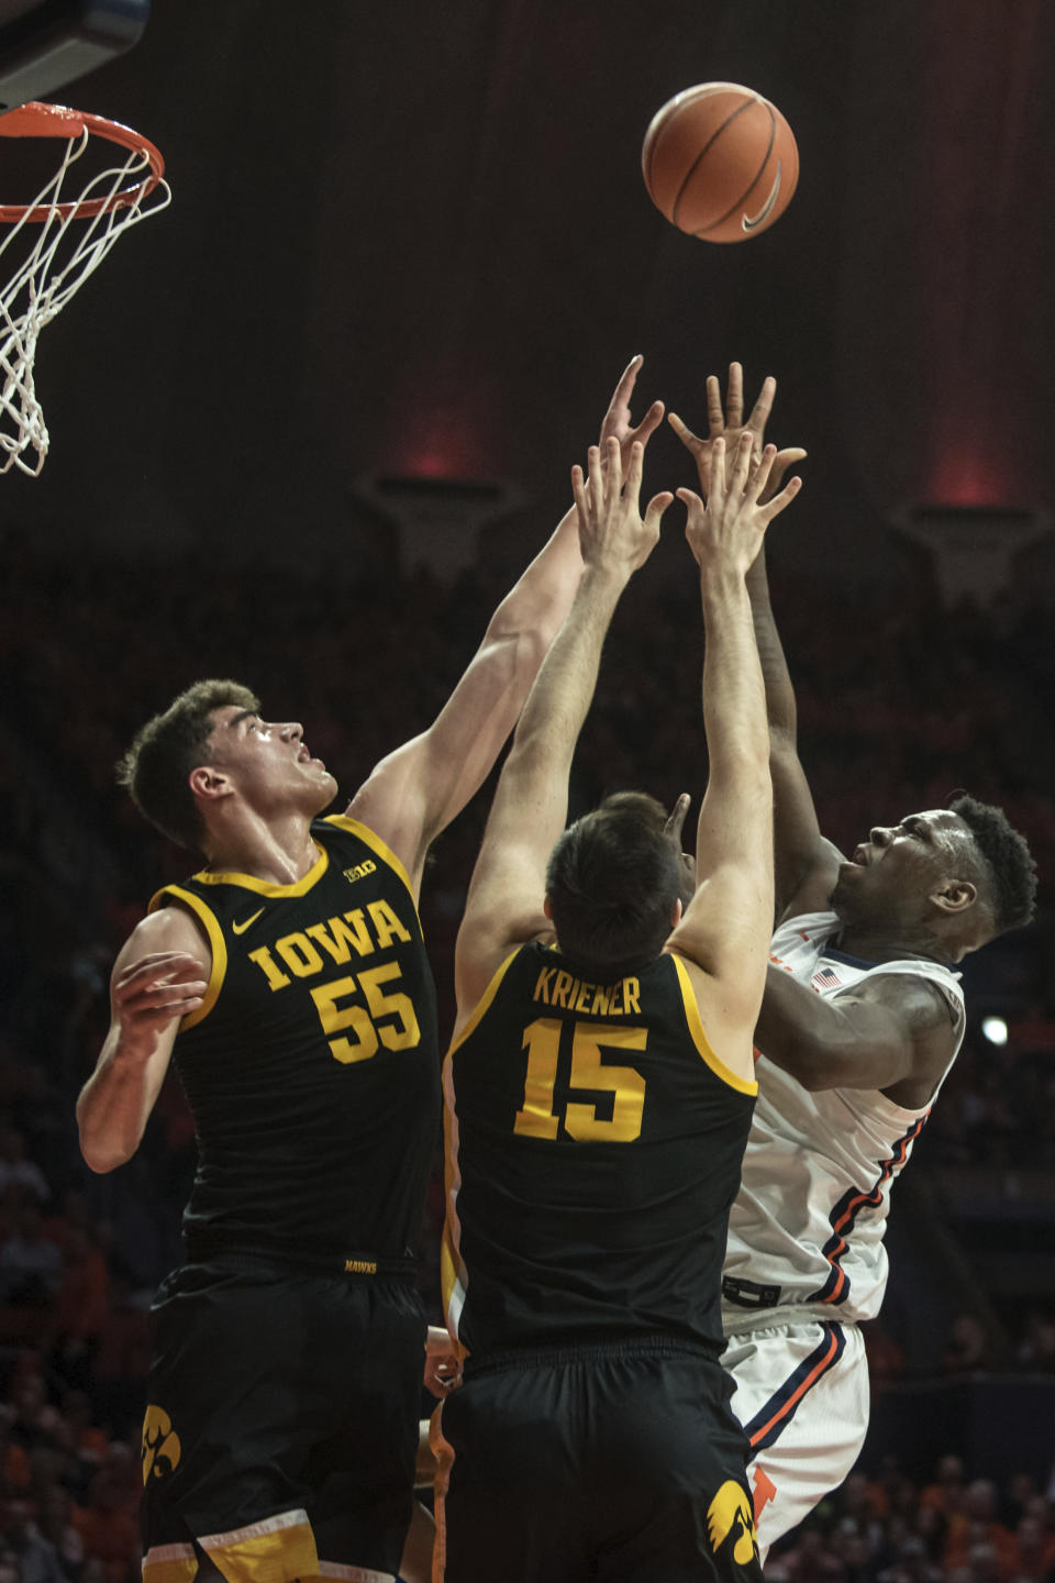
[[[228,704],[214,712],[214,722],[210,763],[261,812],[293,807],[316,814],[332,803],[337,782],[308,752],[297,720],[263,720],[251,709]]]

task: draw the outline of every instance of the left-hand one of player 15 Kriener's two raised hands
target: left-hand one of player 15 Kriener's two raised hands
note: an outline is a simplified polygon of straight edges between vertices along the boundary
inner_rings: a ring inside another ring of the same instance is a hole
[[[630,469],[623,483],[618,440],[612,435],[590,446],[587,476],[576,464],[571,489],[579,514],[579,548],[587,567],[604,565],[630,576],[642,567],[660,541],[660,518],[674,500],[669,491],[653,495],[641,516],[641,469],[644,443],[630,448]]]

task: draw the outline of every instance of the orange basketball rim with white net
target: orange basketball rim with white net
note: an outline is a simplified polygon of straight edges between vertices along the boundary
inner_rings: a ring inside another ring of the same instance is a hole
[[[0,116],[0,138],[60,138],[57,173],[25,204],[0,204],[0,473],[17,467],[35,478],[47,456],[47,427],[33,388],[36,340],[117,237],[171,203],[164,160],[147,138],[103,116],[32,100]],[[62,195],[66,173],[103,139],[123,161],[89,176],[76,196]],[[22,255],[19,255],[22,249]],[[5,256],[8,263],[5,264]]]

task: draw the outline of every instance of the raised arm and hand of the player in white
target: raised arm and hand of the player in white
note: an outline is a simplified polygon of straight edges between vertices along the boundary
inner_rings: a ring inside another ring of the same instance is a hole
[[[671,427],[696,461],[704,497],[710,483],[715,442],[724,438],[726,450],[729,450],[739,445],[742,435],[750,434],[751,450],[758,456],[775,394],[777,380],[769,377],[762,382],[759,397],[745,419],[743,370],[739,363],[732,363],[729,364],[724,408],[717,377],[712,374],[707,378],[707,438],[693,434],[677,413],[669,415]],[[775,453],[761,495],[762,503],[780,489],[788,467],[802,457],[805,457],[805,451],[799,446],[788,446]],[[748,571],[747,587],[766,682],[775,815],[775,912],[780,918],[792,901],[796,912],[827,904],[837,860],[834,848],[821,836],[810,785],[799,760],[796,695],[769,600],[764,548]]]

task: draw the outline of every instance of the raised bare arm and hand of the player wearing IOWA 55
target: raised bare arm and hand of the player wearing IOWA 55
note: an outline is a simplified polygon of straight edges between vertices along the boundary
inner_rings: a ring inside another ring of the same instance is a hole
[[[634,358],[625,369],[601,424],[601,443],[617,442],[623,472],[631,446],[644,446],[663,418],[663,404],[653,402],[636,427],[631,423],[641,363]],[[430,842],[482,785],[505,746],[580,575],[573,508],[492,616],[433,725],[383,758],[353,798],[348,814],[386,841],[414,890]]]

